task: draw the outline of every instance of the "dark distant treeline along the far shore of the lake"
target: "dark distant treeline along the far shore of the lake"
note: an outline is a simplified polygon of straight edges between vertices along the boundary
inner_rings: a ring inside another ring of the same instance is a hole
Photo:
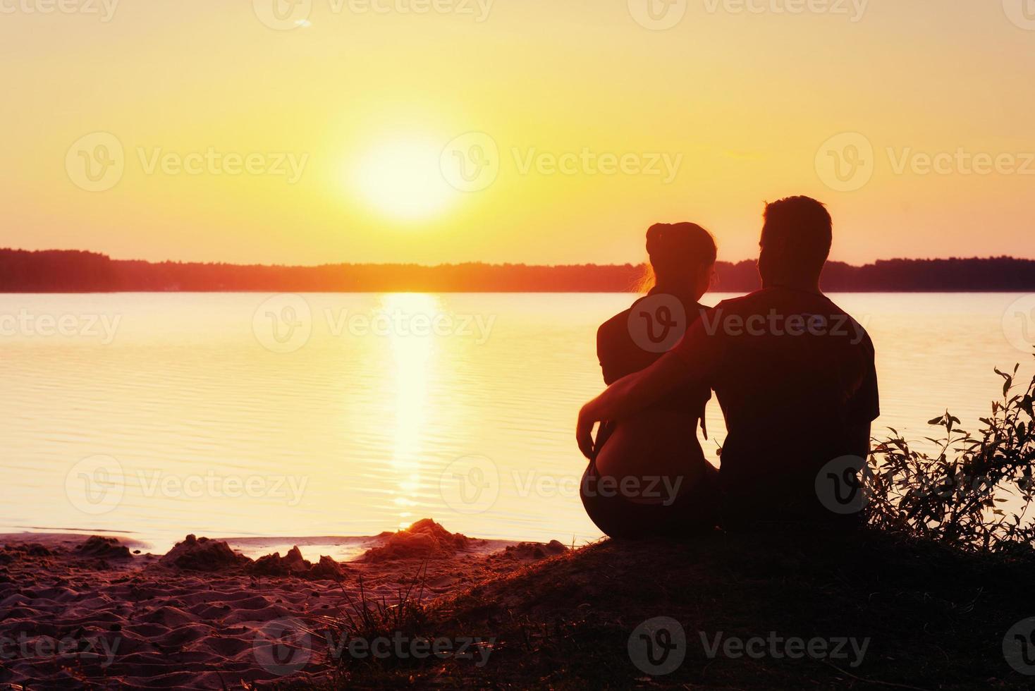
[[[107,292],[480,292],[603,293],[633,290],[643,269],[630,264],[328,264],[316,267],[240,266],[113,260],[76,250],[0,249],[2,293]],[[716,291],[759,287],[755,262],[716,266]],[[885,260],[865,266],[831,262],[830,292],[1035,291],[1035,260]]]

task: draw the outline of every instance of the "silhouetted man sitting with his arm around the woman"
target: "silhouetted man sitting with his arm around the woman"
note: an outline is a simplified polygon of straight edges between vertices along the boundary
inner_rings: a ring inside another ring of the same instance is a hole
[[[596,422],[707,385],[728,429],[721,519],[840,519],[818,497],[817,476],[844,456],[865,458],[880,407],[868,334],[820,291],[831,227],[816,200],[769,204],[758,262],[762,290],[719,303],[657,362],[583,407],[583,453],[592,455]]]

